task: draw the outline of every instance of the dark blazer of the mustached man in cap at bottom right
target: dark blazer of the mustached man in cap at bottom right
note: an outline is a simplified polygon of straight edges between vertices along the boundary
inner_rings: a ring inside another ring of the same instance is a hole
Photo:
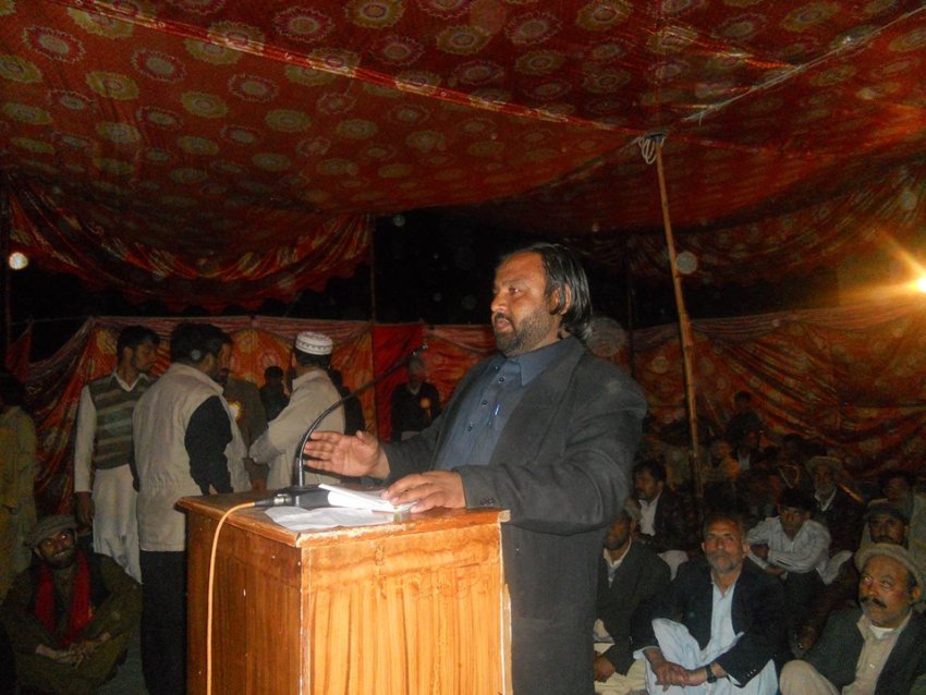
[[[804,656],[817,671],[839,690],[855,680],[855,664],[865,638],[858,632],[862,609],[834,611],[819,641]],[[926,618],[918,613],[898,637],[894,648],[878,678],[877,695],[926,694]]]

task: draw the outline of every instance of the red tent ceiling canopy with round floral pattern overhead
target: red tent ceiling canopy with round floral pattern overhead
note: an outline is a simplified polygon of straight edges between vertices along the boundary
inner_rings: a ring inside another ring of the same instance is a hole
[[[444,207],[663,273],[802,273],[926,223],[921,0],[0,0],[13,244],[221,306]],[[641,139],[643,138],[643,139]]]

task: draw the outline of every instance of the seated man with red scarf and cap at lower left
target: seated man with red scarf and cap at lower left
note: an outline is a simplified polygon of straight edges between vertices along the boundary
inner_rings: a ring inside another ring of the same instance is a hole
[[[138,627],[142,587],[109,556],[80,550],[75,527],[65,515],[36,524],[26,540],[37,561],[0,608],[24,688],[96,692]]]

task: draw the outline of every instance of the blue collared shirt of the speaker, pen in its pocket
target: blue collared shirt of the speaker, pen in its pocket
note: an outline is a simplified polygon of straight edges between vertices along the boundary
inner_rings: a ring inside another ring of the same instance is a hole
[[[492,357],[463,397],[459,415],[448,423],[452,430],[437,455],[435,468],[451,471],[462,465],[487,465],[527,386],[559,362],[573,340],[559,340],[511,359],[501,354]]]

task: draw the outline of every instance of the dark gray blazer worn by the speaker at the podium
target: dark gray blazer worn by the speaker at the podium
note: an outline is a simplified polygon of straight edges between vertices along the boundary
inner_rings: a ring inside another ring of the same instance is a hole
[[[468,508],[511,512],[502,526],[512,608],[515,695],[594,692],[592,627],[606,526],[626,499],[646,402],[636,383],[574,338],[531,381],[486,466],[462,466]],[[386,447],[391,479],[429,471],[475,365],[447,410],[418,437]]]

